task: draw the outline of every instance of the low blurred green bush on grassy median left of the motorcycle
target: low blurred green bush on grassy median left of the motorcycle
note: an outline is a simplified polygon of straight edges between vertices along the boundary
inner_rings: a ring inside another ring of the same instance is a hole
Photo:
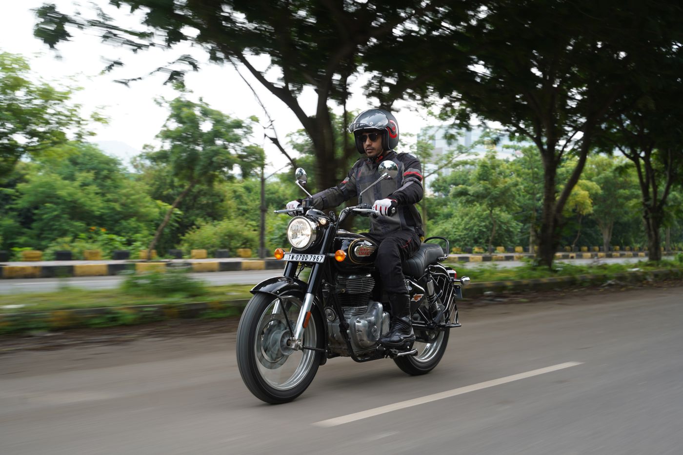
[[[122,282],[121,290],[130,295],[155,297],[198,297],[208,292],[204,281],[186,271],[172,269],[164,273],[130,274]]]

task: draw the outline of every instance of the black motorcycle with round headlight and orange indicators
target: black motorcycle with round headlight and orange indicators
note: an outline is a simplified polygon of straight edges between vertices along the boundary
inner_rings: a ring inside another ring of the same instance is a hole
[[[378,182],[398,175],[393,161],[380,163],[379,171],[380,178],[361,192],[359,201]],[[305,171],[296,169],[296,184],[311,197],[306,181]],[[275,250],[275,257],[286,263],[282,276],[251,289],[253,297],[237,329],[240,375],[254,396],[273,404],[292,401],[333,357],[357,362],[391,358],[411,375],[426,374],[438,365],[450,329],[460,327],[456,299],[462,299],[461,288],[470,281],[441,264],[448,257],[446,238],[426,238],[403,263],[415,343],[408,350],[395,350],[378,344],[391,318],[388,299],[376,285],[378,245],[340,228],[349,215],[378,217],[379,212],[360,204],[344,208],[339,217],[334,212],[325,215],[311,206],[311,199],[275,212],[293,217],[287,228],[292,249]],[[445,241],[445,252],[429,240]],[[304,271],[309,272],[307,281]]]

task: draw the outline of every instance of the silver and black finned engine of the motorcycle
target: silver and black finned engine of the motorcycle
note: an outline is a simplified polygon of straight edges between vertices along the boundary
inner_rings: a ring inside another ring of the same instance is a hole
[[[351,344],[356,353],[374,350],[382,333],[389,331],[389,314],[382,304],[370,300],[375,280],[370,273],[339,275],[337,297],[343,314],[338,315],[332,307],[325,308],[329,343],[333,352],[348,356],[346,341],[339,331],[339,318],[348,323]]]

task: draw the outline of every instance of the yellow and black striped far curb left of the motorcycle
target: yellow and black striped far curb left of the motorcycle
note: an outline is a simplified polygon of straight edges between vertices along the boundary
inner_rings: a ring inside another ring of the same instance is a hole
[[[201,261],[201,262],[124,262],[116,264],[59,264],[59,265],[8,265],[0,264],[0,278],[61,278],[99,277],[119,275],[122,272],[158,272],[167,268],[190,268],[193,272],[232,272],[253,270],[275,270],[284,268],[282,261],[275,259],[243,261]]]

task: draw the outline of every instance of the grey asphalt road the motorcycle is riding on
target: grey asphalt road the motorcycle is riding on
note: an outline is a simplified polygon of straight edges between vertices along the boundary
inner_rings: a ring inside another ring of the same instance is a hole
[[[234,332],[0,355],[0,453],[679,455],[682,292],[466,307],[432,373],[331,359],[279,406],[242,385]]]

